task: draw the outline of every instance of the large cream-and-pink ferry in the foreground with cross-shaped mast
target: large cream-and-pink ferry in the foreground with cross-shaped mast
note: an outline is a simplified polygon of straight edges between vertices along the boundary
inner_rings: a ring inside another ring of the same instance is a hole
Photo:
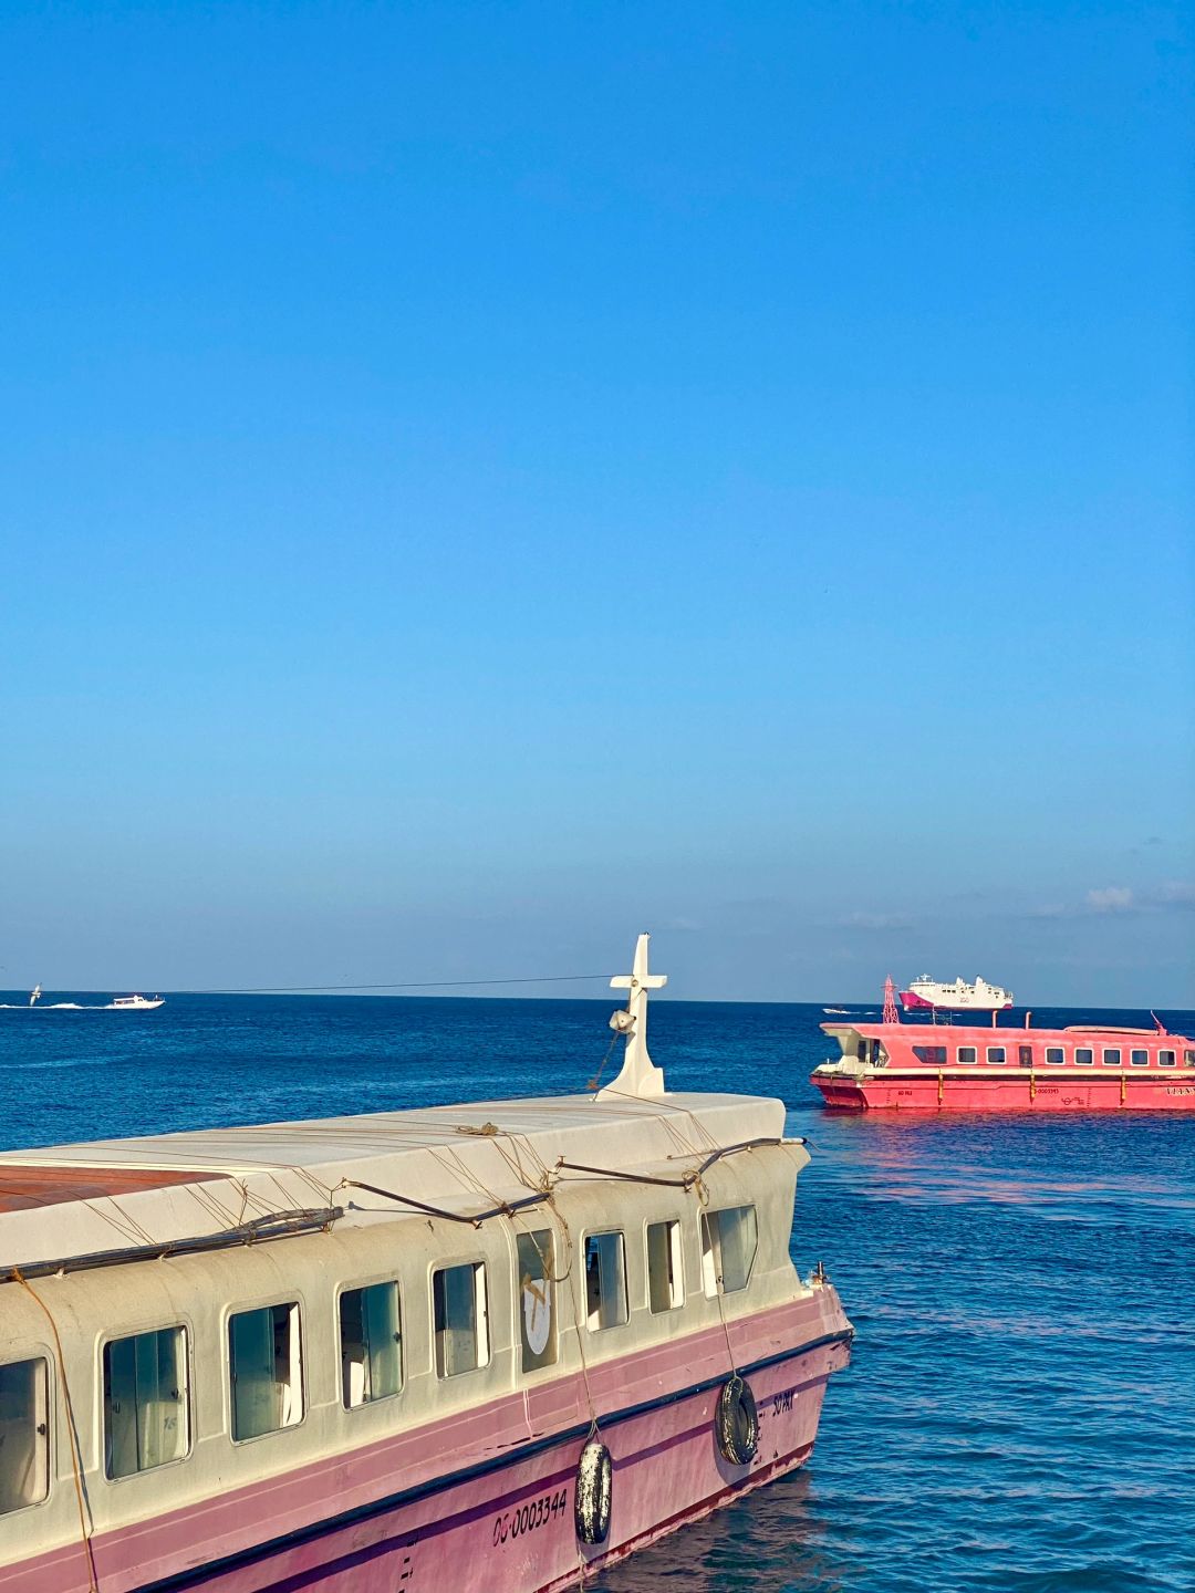
[[[0,1157],[0,1593],[562,1593],[800,1466],[852,1329],[779,1101],[612,1085]]]

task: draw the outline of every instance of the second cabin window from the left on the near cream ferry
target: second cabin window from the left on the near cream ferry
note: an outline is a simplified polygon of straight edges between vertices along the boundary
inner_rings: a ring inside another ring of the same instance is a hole
[[[113,1338],[104,1346],[104,1472],[132,1477],[186,1454],[186,1330]]]

